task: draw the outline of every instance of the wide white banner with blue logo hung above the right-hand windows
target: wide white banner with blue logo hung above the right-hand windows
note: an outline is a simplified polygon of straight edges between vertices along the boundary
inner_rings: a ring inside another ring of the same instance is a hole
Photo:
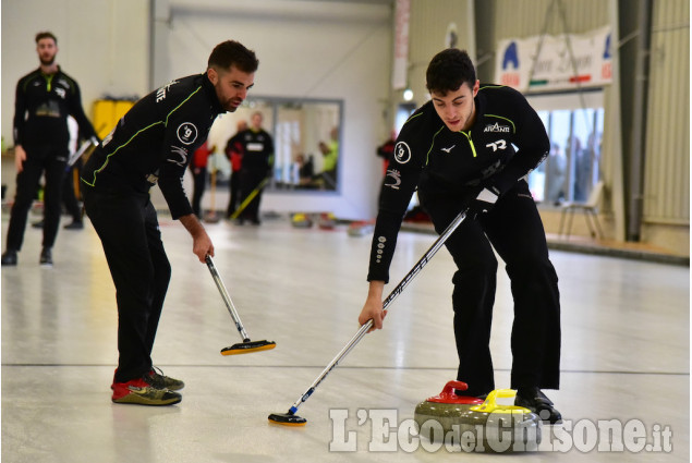
[[[500,40],[496,81],[532,93],[610,84],[610,37],[606,26],[586,34]]]

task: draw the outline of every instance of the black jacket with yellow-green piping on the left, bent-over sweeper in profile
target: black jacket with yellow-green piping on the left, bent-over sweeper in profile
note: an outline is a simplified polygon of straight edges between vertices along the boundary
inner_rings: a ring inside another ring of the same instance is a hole
[[[206,73],[175,80],[128,111],[89,157],[82,182],[100,191],[139,193],[158,183],[173,219],[193,214],[183,174],[222,112]]]

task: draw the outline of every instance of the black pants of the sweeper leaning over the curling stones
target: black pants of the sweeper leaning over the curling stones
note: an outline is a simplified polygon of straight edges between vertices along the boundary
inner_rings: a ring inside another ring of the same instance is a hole
[[[438,233],[461,211],[459,200],[420,196]],[[514,298],[510,387],[558,389],[558,278],[526,183],[519,182],[489,214],[466,219],[446,246],[458,268],[452,278],[458,379],[469,383],[468,393],[478,395],[495,389],[489,349],[497,273],[493,247],[507,265]]]

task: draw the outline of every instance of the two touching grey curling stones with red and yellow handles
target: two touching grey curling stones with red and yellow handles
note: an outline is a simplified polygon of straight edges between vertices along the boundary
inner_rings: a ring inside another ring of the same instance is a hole
[[[517,391],[496,389],[485,401],[458,395],[469,386],[449,381],[439,395],[421,402],[414,419],[420,436],[432,442],[460,442],[474,452],[535,451],[541,443],[542,421],[523,406],[500,405],[497,399],[513,399]]]

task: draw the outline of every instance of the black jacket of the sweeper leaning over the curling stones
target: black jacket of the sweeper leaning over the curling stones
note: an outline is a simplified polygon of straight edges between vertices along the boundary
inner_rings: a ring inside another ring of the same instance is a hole
[[[389,281],[401,221],[416,187],[429,196],[468,200],[481,186],[509,191],[548,155],[536,111],[511,87],[481,85],[473,126],[451,132],[433,101],[405,122],[383,182],[367,280]]]

